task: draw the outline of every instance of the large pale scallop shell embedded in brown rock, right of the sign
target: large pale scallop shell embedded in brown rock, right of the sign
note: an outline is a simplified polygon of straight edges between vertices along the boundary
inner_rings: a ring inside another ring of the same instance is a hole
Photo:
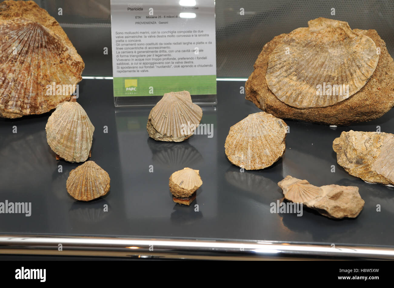
[[[317,18],[308,25],[286,35],[271,52],[266,81],[287,105],[331,106],[348,99],[368,82],[379,54],[375,42],[352,31],[347,22]]]

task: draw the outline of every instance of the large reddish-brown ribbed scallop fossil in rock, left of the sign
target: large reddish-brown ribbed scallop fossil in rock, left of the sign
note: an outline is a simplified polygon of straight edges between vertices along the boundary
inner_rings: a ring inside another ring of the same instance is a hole
[[[48,112],[69,100],[82,80],[82,58],[55,18],[33,1],[0,3],[0,51],[1,117]]]

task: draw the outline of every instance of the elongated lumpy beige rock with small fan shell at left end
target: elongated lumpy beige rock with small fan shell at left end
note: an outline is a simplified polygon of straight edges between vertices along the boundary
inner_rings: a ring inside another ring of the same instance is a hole
[[[284,198],[291,202],[295,202],[292,197],[294,195],[291,193],[294,190],[303,191],[301,194],[306,190],[318,191],[314,195],[305,195],[305,201],[299,203],[303,203],[303,205],[315,209],[329,218],[355,218],[364,207],[364,200],[361,199],[359,188],[355,186],[331,184],[317,187],[311,185],[307,180],[300,180],[292,176],[286,176],[278,185],[283,190]],[[307,189],[303,189],[303,187],[307,187]]]

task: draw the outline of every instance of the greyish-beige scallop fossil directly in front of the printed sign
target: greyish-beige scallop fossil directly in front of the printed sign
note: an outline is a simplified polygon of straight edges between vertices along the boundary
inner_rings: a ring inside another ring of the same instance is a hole
[[[149,113],[147,131],[155,140],[181,142],[193,135],[202,117],[188,91],[166,93]]]

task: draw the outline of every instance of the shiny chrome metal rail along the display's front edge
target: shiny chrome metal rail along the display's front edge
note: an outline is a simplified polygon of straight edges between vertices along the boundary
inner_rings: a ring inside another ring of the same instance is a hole
[[[194,260],[393,260],[394,248],[269,241],[2,235],[0,254]]]

